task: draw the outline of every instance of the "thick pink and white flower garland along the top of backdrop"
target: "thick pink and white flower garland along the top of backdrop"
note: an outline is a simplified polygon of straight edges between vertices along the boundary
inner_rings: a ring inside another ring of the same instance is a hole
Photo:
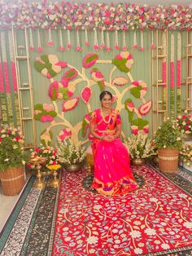
[[[174,5],[140,6],[119,3],[72,3],[56,1],[13,0],[0,2],[0,27],[127,30],[127,29],[191,29],[191,7]],[[126,22],[124,20],[126,19]]]

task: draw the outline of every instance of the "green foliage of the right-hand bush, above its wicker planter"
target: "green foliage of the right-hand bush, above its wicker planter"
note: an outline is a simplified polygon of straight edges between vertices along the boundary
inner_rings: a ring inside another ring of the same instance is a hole
[[[164,121],[155,134],[157,148],[180,149],[182,146],[181,132],[174,121]]]

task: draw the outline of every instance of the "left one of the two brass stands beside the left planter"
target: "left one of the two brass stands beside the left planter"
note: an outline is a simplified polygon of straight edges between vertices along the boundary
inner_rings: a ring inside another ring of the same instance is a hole
[[[37,181],[34,184],[34,188],[37,189],[42,189],[46,187],[46,183],[44,183],[44,181],[41,180],[41,163],[43,163],[44,161],[46,161],[46,158],[44,157],[35,157],[30,160],[30,162],[32,162],[37,169]]]

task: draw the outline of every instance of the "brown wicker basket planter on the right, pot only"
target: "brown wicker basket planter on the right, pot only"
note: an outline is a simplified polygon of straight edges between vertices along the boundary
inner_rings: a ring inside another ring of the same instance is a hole
[[[175,173],[178,169],[179,151],[162,148],[158,150],[159,169],[167,173]]]

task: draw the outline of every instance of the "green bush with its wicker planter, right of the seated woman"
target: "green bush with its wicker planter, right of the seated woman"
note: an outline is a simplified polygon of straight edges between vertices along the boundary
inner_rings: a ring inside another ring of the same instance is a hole
[[[155,134],[158,148],[159,169],[164,172],[176,172],[178,167],[179,149],[181,149],[181,132],[176,122],[164,121]]]

